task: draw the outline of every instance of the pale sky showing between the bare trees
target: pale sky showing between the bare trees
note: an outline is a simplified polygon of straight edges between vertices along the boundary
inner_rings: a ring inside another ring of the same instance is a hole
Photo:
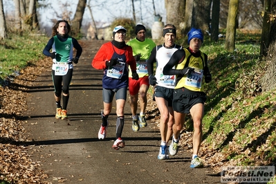
[[[154,0],[156,14],[163,17],[162,21],[165,21],[166,10],[165,0]],[[111,22],[118,17],[133,18],[131,0],[90,0],[90,6],[92,8],[93,17],[95,21]],[[144,24],[151,27],[154,23],[154,6],[153,0],[135,0],[134,8],[136,11],[137,23]],[[40,23],[43,25],[48,24],[52,26],[53,23],[50,19],[61,19],[63,12],[71,12],[70,19],[73,19],[75,15],[75,9],[77,1],[75,0],[46,0],[39,1],[39,3],[48,4],[46,8],[39,9],[41,14]],[[89,0],[87,0],[89,3]],[[3,0],[4,12],[12,12],[14,10],[14,3],[11,0]],[[89,9],[84,11],[83,24],[91,22],[91,15]]]

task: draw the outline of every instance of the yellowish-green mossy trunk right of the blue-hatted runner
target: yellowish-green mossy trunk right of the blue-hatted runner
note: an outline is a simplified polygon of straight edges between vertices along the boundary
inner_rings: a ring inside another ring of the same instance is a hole
[[[239,8],[239,0],[230,0],[227,28],[226,28],[226,50],[234,51],[234,40],[236,38],[236,25],[237,25],[237,14]]]

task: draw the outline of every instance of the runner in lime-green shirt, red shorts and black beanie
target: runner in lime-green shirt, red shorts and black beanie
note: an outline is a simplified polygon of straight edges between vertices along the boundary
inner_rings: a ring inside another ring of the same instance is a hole
[[[133,118],[132,129],[139,131],[140,127],[147,127],[145,110],[147,107],[147,90],[149,89],[149,75],[147,73],[147,59],[151,50],[156,44],[151,39],[146,38],[147,30],[142,24],[135,28],[136,38],[127,42],[132,47],[133,55],[136,59],[136,72],[139,80],[133,80],[131,70],[129,70],[129,95],[131,97],[130,107]],[[140,102],[140,116],[137,116],[138,97]],[[138,118],[140,125],[138,125]]]

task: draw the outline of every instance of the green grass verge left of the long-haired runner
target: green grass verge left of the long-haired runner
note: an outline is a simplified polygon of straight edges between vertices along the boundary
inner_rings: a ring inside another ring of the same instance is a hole
[[[21,68],[30,66],[44,57],[42,50],[48,42],[45,36],[10,35],[0,40],[0,84],[19,75]]]

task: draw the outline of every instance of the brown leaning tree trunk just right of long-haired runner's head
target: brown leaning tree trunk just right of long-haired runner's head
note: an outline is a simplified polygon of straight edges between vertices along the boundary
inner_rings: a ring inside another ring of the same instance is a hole
[[[75,11],[75,16],[72,20],[71,32],[73,35],[77,36],[80,33],[80,28],[82,27],[82,18],[84,16],[84,9],[86,7],[86,0],[79,0],[77,3],[77,10]]]

